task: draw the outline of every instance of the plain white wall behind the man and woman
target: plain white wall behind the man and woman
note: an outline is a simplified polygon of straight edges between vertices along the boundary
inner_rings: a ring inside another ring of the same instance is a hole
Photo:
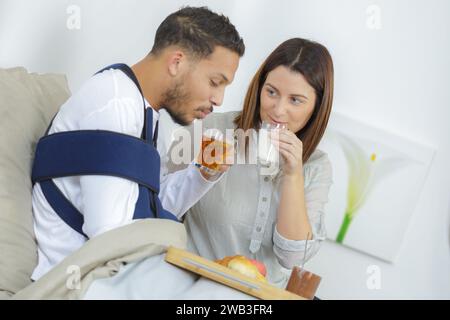
[[[81,9],[80,30],[66,27],[73,4]],[[449,299],[450,2],[0,0],[0,67],[65,73],[75,91],[102,66],[143,57],[159,23],[182,4],[223,12],[246,42],[222,111],[240,108],[252,74],[276,45],[305,37],[334,58],[336,111],[437,150],[395,263],[326,243],[306,266],[323,277],[318,295]],[[380,8],[381,29],[367,27],[370,5]],[[380,290],[366,285],[370,265],[381,270]]]

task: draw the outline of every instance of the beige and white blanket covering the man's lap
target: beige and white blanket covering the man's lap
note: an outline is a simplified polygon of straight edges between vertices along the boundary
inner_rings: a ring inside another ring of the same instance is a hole
[[[181,223],[138,220],[90,239],[12,298],[254,299],[164,261],[169,246],[186,243]]]

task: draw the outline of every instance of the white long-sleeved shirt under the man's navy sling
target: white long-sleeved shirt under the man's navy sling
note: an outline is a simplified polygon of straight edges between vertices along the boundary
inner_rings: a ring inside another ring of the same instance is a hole
[[[145,105],[150,107],[146,100]],[[143,108],[135,84],[120,70],[107,70],[90,78],[61,106],[49,134],[99,129],[140,137]],[[158,118],[159,113],[153,110],[153,130]],[[137,183],[112,176],[64,177],[53,181],[83,214],[83,232],[89,238],[133,221],[139,195]],[[166,210],[181,217],[213,184],[193,165],[175,174],[167,174],[163,166],[159,197]],[[38,265],[32,279],[37,280],[79,249],[86,239],[54,212],[39,184],[33,187],[32,204],[38,244]]]

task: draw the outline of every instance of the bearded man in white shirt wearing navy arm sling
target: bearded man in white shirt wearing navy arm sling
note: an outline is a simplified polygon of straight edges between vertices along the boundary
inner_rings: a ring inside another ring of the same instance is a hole
[[[209,190],[193,165],[160,184],[158,111],[181,125],[203,119],[222,104],[244,50],[226,17],[185,7],[162,22],[148,56],[99,71],[61,107],[33,163],[32,279],[134,219],[176,220]]]

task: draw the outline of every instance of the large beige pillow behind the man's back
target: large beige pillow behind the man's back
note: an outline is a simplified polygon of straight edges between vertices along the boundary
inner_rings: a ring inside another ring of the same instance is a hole
[[[33,154],[69,95],[63,75],[0,69],[0,299],[31,283],[37,264],[31,211]]]

